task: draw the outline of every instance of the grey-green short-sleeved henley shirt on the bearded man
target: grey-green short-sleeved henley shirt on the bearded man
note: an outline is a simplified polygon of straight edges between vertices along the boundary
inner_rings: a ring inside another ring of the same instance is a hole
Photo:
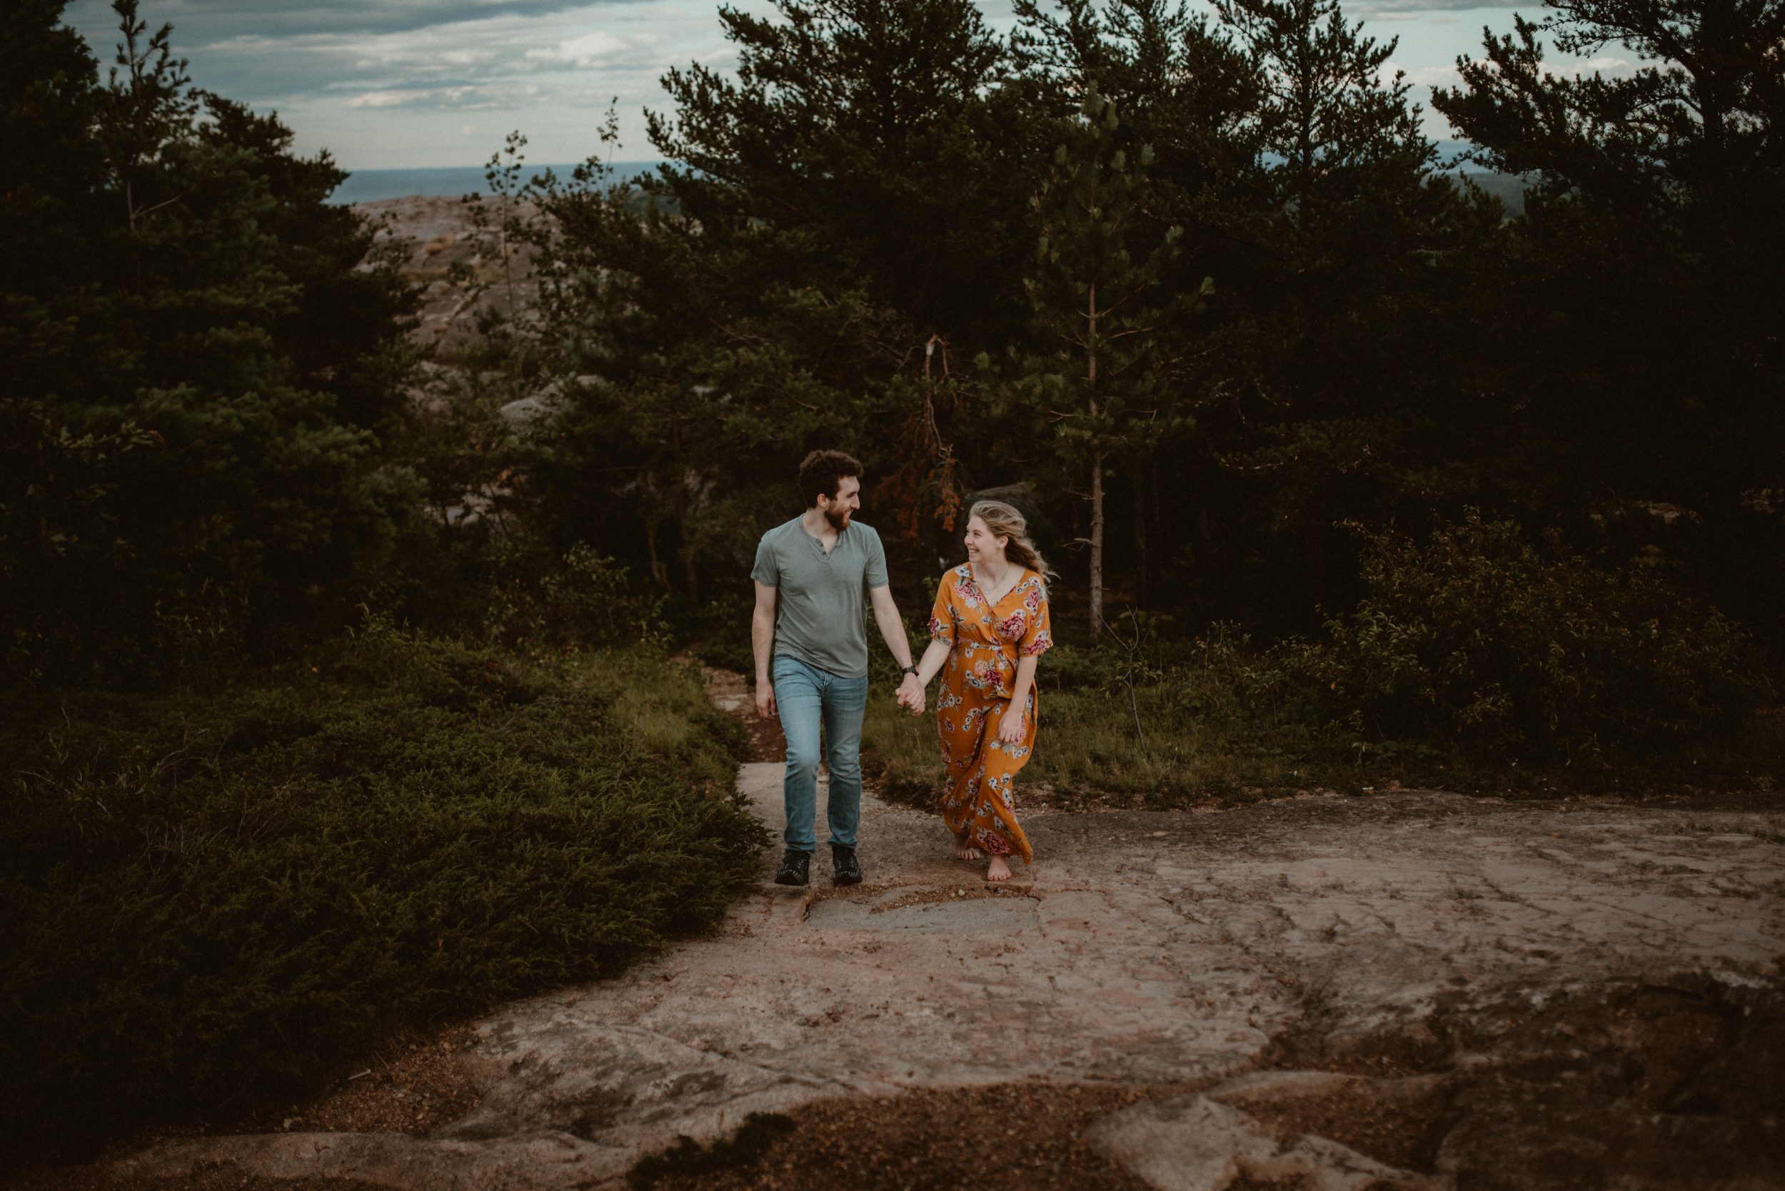
[[[843,678],[868,674],[868,592],[887,585],[887,554],[873,526],[851,521],[826,554],[794,517],[762,535],[750,578],[778,588],[776,654]]]

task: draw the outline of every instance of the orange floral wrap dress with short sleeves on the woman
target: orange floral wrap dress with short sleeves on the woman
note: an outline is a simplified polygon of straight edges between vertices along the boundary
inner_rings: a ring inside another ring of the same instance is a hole
[[[1035,747],[1035,688],[1023,706],[1023,740],[998,740],[998,722],[1010,706],[1016,667],[1053,645],[1048,588],[1025,569],[992,604],[962,563],[942,576],[930,610],[930,637],[948,642],[935,726],[948,765],[942,822],[962,843],[994,856],[1017,854],[1030,863],[1028,836],[1016,822],[1012,784]]]

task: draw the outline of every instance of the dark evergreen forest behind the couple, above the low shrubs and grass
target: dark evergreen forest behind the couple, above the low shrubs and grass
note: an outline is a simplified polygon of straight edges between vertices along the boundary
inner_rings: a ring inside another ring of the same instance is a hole
[[[527,182],[511,141],[541,307],[450,415],[405,396],[405,294],[327,157],[145,29],[102,84],[54,7],[7,48],[14,678],[154,670],[200,604],[257,658],[368,601],[489,626],[477,578],[577,546],[735,610],[816,444],[868,464],[912,592],[1019,485],[1087,635],[1319,633],[1371,535],[1471,515],[1785,631],[1776,4],[1489,34],[1433,103],[1519,218],[1333,2],[1025,0],[1010,37],[966,0],[726,9],[735,78],[669,71],[659,175],[591,144]]]

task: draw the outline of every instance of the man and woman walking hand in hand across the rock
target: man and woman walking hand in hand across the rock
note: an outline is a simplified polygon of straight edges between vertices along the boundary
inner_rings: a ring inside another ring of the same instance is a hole
[[[800,464],[807,510],[762,535],[750,578],[757,713],[787,736],[782,786],[787,831],[778,884],[807,884],[818,847],[818,761],[830,768],[826,822],[832,879],[859,884],[855,829],[862,802],[862,713],[868,708],[868,610],[905,672],[898,704],[921,715],[942,674],[935,722],[948,767],[942,822],[960,859],[987,859],[987,881],[1009,881],[1009,856],[1030,863],[1012,783],[1035,747],[1035,665],[1053,644],[1048,565],[1023,515],[1001,501],[967,513],[967,560],[946,571],[930,610],[930,645],[912,665],[905,622],[887,585],[885,551],[860,508],[862,465],[841,451]]]

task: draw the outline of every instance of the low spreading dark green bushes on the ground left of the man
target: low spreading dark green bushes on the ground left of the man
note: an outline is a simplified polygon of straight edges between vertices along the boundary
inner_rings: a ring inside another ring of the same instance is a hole
[[[744,747],[660,654],[380,624],[223,690],[9,715],[7,1150],[252,1113],[718,922],[766,843]]]

